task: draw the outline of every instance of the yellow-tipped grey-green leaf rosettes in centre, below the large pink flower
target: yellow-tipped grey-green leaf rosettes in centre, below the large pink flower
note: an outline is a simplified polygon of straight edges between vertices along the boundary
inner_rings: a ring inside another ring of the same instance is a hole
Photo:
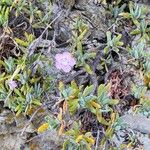
[[[108,125],[102,117],[102,112],[112,111],[112,105],[116,105],[118,100],[109,98],[108,85],[99,85],[97,95],[93,94],[94,86],[90,85],[83,89],[75,82],[65,87],[61,82],[59,85],[61,97],[68,102],[69,111],[73,115],[79,108],[86,108],[97,116],[100,123]]]

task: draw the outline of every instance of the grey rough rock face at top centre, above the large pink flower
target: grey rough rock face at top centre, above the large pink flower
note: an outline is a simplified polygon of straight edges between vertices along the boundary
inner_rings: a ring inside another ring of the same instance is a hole
[[[104,38],[107,29],[104,17],[105,9],[87,0],[77,1],[75,6],[75,10],[68,12],[67,17],[59,20],[56,29],[56,31],[58,31],[56,34],[56,41],[61,44],[72,38],[72,30],[78,18],[81,18],[82,21],[88,25],[89,30],[86,34],[86,38],[90,37],[90,40]]]

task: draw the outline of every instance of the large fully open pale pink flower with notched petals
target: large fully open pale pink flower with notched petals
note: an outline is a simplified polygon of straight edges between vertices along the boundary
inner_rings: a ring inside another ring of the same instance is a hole
[[[56,54],[55,56],[55,66],[59,70],[64,72],[70,72],[72,67],[76,64],[76,60],[69,52],[64,52],[62,54]]]

